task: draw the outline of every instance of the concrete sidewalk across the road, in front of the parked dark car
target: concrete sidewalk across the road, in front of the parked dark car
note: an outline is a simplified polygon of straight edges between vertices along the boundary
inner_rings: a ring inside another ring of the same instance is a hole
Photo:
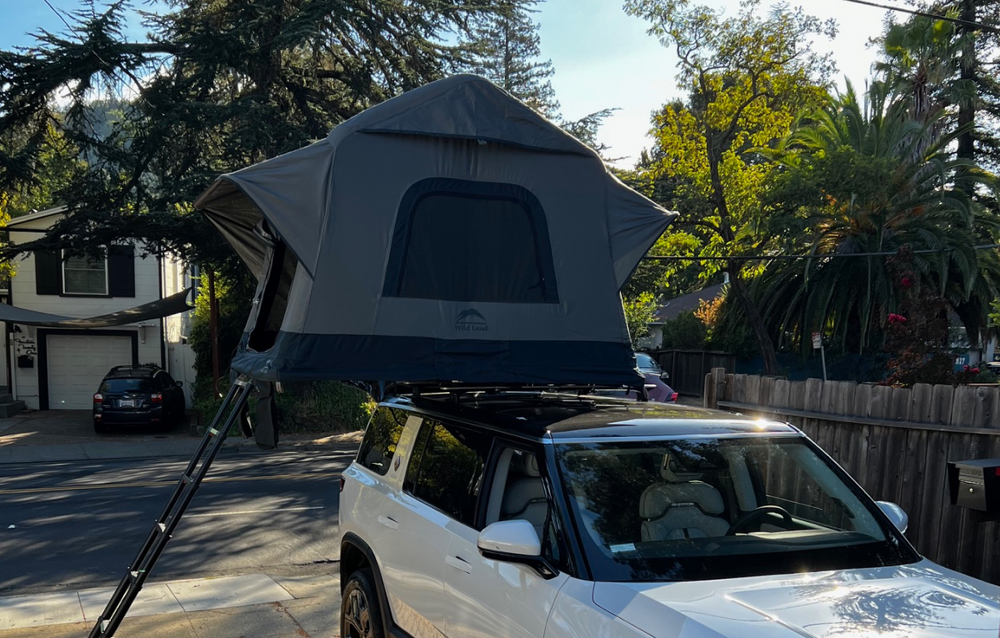
[[[278,451],[292,449],[356,450],[360,432],[282,434]],[[152,457],[191,457],[201,436],[186,423],[165,432],[142,429],[110,434],[93,431],[90,412],[41,410],[0,419],[0,464],[88,461]],[[253,440],[230,437],[224,453],[258,453]]]

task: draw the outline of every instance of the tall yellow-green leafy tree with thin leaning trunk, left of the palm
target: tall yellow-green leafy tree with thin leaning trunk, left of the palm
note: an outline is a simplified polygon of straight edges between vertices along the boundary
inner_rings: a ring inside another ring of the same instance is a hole
[[[772,165],[759,161],[756,149],[787,134],[799,112],[823,98],[831,64],[803,43],[832,36],[834,25],[785,5],[758,17],[759,0],[745,0],[733,18],[686,0],[627,0],[625,8],[675,48],[679,81],[690,94],[686,104],[656,115],[659,159],[649,171],[678,181],[672,207],[705,233],[701,256],[765,254],[768,238],[753,232],[755,194]],[[724,263],[765,370],[774,374],[774,342],[747,289],[750,271],[742,261]]]

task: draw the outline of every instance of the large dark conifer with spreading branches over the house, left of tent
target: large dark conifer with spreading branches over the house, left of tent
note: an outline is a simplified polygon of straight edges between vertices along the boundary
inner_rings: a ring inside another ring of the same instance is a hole
[[[123,34],[127,0],[86,3],[68,32],[0,51],[0,131],[19,141],[0,149],[0,191],[24,188],[49,127],[89,160],[64,189],[73,214],[20,250],[138,239],[242,272],[190,202],[220,173],[440,77],[458,58],[446,39],[501,1],[169,0],[144,14],[145,42]],[[93,125],[100,93],[119,99],[107,127]]]

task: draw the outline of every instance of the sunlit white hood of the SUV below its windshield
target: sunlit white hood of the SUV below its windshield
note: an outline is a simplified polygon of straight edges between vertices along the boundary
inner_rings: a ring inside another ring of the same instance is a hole
[[[1000,588],[930,561],[686,583],[596,583],[656,638],[997,638]]]

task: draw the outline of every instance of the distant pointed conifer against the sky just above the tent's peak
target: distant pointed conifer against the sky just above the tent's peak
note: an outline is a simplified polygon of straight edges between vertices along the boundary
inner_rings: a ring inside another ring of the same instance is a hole
[[[552,88],[551,60],[541,58],[538,25],[531,20],[539,0],[501,0],[495,13],[472,21],[463,44],[469,51],[466,70],[481,75],[542,115],[559,117]]]

